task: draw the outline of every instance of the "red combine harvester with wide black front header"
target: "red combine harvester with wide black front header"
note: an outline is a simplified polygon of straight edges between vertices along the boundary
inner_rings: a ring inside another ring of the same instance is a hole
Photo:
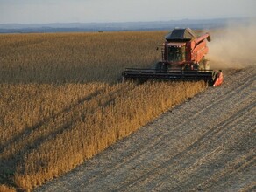
[[[189,28],[174,29],[165,37],[162,48],[162,60],[152,69],[126,68],[123,79],[169,79],[169,80],[205,80],[212,86],[223,82],[223,73],[210,70],[209,61],[205,58],[209,49],[206,40],[210,35],[205,33],[196,37]]]

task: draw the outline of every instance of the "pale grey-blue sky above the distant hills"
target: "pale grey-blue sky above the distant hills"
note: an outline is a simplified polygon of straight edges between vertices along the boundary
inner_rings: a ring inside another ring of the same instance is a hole
[[[256,0],[0,0],[0,24],[256,17]]]

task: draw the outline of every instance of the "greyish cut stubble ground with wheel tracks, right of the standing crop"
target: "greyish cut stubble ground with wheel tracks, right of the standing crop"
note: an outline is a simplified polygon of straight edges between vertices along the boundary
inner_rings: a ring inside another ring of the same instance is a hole
[[[35,191],[253,191],[256,67],[203,93]]]

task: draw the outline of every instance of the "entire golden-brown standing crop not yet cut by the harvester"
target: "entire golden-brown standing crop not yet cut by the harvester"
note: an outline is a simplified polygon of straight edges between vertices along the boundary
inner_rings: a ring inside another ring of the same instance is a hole
[[[0,182],[41,185],[206,87],[114,83],[124,65],[154,63],[163,32],[102,35],[0,37]]]

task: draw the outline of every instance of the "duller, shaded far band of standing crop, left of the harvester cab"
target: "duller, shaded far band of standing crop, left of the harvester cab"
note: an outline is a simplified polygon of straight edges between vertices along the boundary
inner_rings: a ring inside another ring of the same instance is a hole
[[[115,82],[125,66],[148,66],[164,32],[0,36],[0,82]]]

